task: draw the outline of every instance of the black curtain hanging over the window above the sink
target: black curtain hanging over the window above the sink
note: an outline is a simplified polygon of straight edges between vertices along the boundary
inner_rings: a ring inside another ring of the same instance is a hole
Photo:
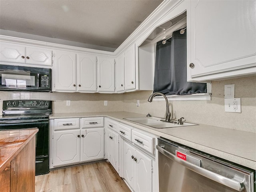
[[[189,95],[206,93],[206,83],[187,82],[186,31],[172,33],[172,38],[156,44],[154,92],[165,95]]]

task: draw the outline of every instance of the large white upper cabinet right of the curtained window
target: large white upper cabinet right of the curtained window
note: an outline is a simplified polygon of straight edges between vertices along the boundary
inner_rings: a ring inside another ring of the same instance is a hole
[[[189,81],[256,73],[255,7],[256,1],[191,1]]]

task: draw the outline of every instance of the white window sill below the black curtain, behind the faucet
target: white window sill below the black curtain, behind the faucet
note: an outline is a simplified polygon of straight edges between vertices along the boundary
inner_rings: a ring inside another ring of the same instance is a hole
[[[166,95],[168,101],[210,101],[211,93],[198,93],[192,95]],[[155,96],[153,101],[165,101],[163,96]]]

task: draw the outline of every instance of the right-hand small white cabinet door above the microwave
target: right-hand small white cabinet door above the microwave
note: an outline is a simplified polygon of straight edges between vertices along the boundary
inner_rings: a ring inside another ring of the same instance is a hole
[[[26,47],[26,64],[52,66],[52,51]]]

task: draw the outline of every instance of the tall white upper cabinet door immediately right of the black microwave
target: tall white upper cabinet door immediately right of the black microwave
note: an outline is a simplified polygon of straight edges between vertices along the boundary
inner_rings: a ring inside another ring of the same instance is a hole
[[[76,91],[76,54],[54,52],[54,89]]]

